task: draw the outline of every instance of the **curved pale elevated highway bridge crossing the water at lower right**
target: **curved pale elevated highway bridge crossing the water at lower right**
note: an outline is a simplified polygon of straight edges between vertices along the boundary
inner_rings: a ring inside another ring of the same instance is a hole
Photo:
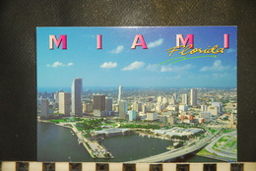
[[[127,161],[126,163],[161,162],[161,161],[165,161],[165,160],[168,160],[168,159],[173,159],[173,158],[176,158],[176,157],[179,157],[179,156],[183,156],[185,154],[194,152],[195,150],[198,150],[198,149],[204,147],[211,140],[218,137],[220,132],[221,132],[221,130],[215,135],[212,135],[212,134],[208,135],[207,138],[201,140],[200,142],[196,142],[195,144],[190,145],[190,146],[183,146],[183,147],[181,147],[181,148],[179,148],[178,150],[175,150],[175,151],[166,151],[166,152],[160,153],[158,155],[154,155],[154,156],[150,156],[150,157],[146,157],[146,158],[142,158],[142,159],[138,159],[138,160],[133,160],[133,161]]]

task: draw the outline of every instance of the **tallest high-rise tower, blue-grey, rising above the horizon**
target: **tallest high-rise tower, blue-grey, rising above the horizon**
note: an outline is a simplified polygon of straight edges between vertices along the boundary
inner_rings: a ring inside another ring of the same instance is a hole
[[[74,79],[71,87],[71,115],[82,114],[82,79]]]

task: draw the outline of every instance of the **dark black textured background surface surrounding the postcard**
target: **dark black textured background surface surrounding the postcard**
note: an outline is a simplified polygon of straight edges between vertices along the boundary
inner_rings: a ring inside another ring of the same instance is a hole
[[[256,5],[234,0],[0,3],[0,160],[36,160],[35,27],[237,26],[238,161],[256,161]]]

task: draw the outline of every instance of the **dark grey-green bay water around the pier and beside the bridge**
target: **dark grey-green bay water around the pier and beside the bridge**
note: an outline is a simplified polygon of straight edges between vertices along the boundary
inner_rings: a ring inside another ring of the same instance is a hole
[[[124,162],[167,151],[171,142],[138,135],[106,138],[102,144],[114,159],[94,159],[83,145],[79,145],[70,129],[51,123],[37,123],[37,160],[74,162]],[[69,158],[70,157],[70,158]],[[217,162],[218,160],[188,155],[188,162]],[[219,161],[220,162],[220,161]]]

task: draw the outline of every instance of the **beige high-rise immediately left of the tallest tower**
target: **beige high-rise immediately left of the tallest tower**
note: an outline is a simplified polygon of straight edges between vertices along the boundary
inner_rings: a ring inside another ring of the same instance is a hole
[[[69,92],[59,92],[59,113],[70,115],[71,95]]]

